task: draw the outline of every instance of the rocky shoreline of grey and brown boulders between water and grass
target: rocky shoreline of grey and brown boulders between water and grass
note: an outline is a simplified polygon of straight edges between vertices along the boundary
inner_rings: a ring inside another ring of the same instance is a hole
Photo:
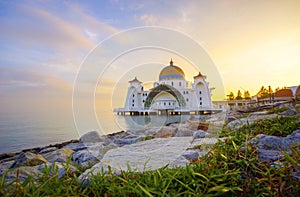
[[[0,176],[5,176],[5,182],[16,179],[22,182],[28,176],[37,177],[45,169],[53,168],[52,173],[63,177],[80,166],[86,170],[79,179],[86,180],[92,173],[105,173],[111,169],[119,174],[122,170],[143,172],[167,165],[170,168],[184,167],[197,161],[218,140],[222,140],[216,131],[221,129],[225,118],[227,128],[234,130],[261,119],[299,113],[299,110],[289,106],[281,114],[268,114],[266,111],[253,112],[247,117],[238,113],[217,114],[206,122],[188,120],[181,124],[104,136],[90,131],[79,140],[0,155]],[[249,142],[259,148],[261,160],[275,161],[283,157],[280,150],[288,152],[291,144],[300,143],[300,128],[287,137],[258,135]]]

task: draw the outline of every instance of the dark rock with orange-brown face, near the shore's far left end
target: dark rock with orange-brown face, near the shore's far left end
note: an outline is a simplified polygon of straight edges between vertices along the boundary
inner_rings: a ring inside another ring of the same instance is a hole
[[[46,159],[40,154],[25,152],[17,156],[15,162],[11,165],[11,168],[19,166],[36,166],[46,162]]]

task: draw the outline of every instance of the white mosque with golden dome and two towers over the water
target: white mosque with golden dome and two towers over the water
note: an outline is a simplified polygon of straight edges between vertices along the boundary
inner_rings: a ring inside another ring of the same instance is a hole
[[[185,80],[184,71],[171,59],[150,90],[144,90],[136,77],[129,81],[125,106],[116,112],[121,115],[214,113],[220,109],[213,109],[212,88],[208,86],[206,76],[200,72],[193,82]]]

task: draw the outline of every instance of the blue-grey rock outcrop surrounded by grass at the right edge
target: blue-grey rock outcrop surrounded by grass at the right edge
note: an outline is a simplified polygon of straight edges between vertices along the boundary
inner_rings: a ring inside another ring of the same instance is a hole
[[[258,148],[260,160],[274,161],[283,157],[281,151],[290,152],[290,146],[300,143],[300,130],[296,130],[286,137],[259,134],[249,143]]]

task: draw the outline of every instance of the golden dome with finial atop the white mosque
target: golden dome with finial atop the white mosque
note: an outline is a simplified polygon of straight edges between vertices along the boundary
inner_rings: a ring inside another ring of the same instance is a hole
[[[184,80],[184,72],[178,66],[173,65],[173,61],[171,59],[170,65],[164,67],[159,74],[159,80],[170,80],[170,79],[183,79]]]

